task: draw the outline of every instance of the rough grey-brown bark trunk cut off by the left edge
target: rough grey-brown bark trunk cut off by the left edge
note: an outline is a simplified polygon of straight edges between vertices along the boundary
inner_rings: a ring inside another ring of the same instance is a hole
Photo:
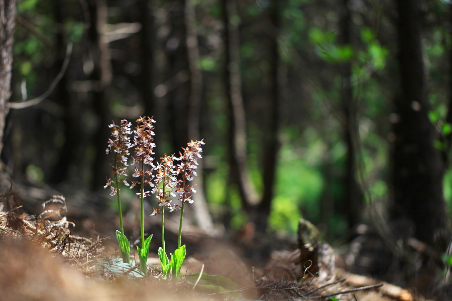
[[[11,97],[16,0],[0,0],[0,154],[3,149],[7,102]]]

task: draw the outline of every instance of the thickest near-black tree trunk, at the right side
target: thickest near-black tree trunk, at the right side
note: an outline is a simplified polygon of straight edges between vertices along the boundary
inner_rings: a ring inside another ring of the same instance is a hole
[[[438,230],[446,227],[442,192],[443,163],[433,146],[435,129],[422,60],[420,2],[397,0],[400,95],[394,103],[399,121],[394,124],[394,205],[391,217],[408,218],[414,237],[432,245]]]

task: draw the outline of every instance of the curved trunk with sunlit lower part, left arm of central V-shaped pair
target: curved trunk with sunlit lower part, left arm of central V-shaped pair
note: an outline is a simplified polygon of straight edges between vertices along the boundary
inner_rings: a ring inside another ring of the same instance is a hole
[[[229,100],[229,161],[231,179],[239,188],[242,206],[249,211],[259,200],[251,183],[247,162],[247,128],[240,75],[240,39],[238,25],[231,17],[237,14],[235,0],[221,0],[224,22],[225,82]]]

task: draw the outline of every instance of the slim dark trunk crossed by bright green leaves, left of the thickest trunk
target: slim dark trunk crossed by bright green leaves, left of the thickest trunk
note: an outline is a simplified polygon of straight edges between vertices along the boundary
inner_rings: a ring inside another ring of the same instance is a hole
[[[352,45],[352,19],[349,0],[342,0],[341,7],[341,44]],[[357,176],[357,142],[358,136],[358,104],[353,96],[352,63],[345,62],[341,66],[342,88],[341,101],[344,110],[344,138],[347,145],[345,194],[342,211],[346,214],[349,227],[361,221],[363,193],[356,180]]]

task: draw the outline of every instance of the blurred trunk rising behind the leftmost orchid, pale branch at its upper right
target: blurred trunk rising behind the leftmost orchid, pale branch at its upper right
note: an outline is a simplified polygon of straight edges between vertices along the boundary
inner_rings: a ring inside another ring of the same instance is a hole
[[[110,51],[108,43],[104,40],[102,32],[106,24],[107,6],[106,0],[89,0],[89,13],[91,16],[91,27],[88,30],[90,42],[90,54],[92,55],[94,69],[90,79],[95,82],[93,91],[93,108],[97,116],[97,129],[93,135],[93,145],[95,157],[93,162],[93,190],[104,185],[108,158],[105,156],[105,144],[108,140],[110,120],[110,110],[108,105],[108,87],[111,82]]]

